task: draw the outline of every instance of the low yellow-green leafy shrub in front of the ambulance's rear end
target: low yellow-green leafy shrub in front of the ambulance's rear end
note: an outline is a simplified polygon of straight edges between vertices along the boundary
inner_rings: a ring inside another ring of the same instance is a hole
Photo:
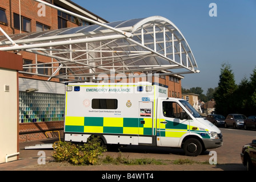
[[[98,138],[91,137],[87,143],[78,145],[70,142],[57,142],[53,145],[53,158],[57,162],[69,162],[79,165],[93,165],[106,148],[101,146]]]

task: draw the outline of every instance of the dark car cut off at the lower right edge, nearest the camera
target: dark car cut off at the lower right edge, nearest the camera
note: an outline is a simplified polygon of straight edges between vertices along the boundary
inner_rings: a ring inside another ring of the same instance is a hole
[[[248,171],[256,169],[256,140],[243,146],[241,159]]]

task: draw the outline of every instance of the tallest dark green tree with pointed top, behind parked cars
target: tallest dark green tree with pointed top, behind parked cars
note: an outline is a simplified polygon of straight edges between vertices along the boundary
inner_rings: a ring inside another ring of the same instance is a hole
[[[218,88],[214,94],[216,102],[215,110],[217,113],[227,115],[233,112],[233,94],[237,89],[234,80],[234,73],[230,64],[221,65],[221,75],[219,75]]]

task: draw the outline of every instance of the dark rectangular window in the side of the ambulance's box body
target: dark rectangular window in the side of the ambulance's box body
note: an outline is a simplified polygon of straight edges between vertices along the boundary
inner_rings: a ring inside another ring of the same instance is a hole
[[[117,99],[94,98],[91,101],[93,109],[117,109]]]

